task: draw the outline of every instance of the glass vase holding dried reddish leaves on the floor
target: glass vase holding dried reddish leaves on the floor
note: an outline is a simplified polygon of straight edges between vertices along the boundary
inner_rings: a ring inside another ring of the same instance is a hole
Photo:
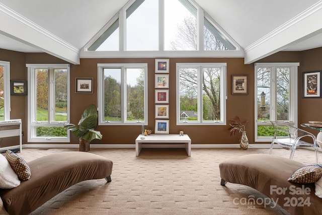
[[[247,150],[248,145],[249,145],[249,141],[248,141],[248,137],[246,135],[246,124],[248,123],[248,120],[242,122],[240,117],[237,116],[236,119],[230,119],[229,121],[230,121],[230,123],[229,123],[230,136],[234,136],[236,131],[238,131],[239,133],[242,133],[242,135],[239,139],[239,147],[240,147],[240,149]]]

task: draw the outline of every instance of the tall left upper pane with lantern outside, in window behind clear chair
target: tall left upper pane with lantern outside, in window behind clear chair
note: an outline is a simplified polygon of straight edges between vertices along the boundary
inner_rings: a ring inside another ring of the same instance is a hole
[[[257,119],[258,121],[269,121],[270,118],[270,86],[271,68],[259,68],[257,70]]]

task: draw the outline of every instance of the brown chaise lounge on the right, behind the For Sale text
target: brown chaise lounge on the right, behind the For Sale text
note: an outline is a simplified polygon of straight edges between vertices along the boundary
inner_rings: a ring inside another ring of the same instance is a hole
[[[223,180],[250,186],[273,198],[291,214],[322,214],[322,199],[315,196],[314,184],[287,181],[293,171],[302,166],[302,163],[287,158],[256,154],[223,161],[219,169]],[[298,202],[295,206],[289,201],[292,197]],[[306,199],[302,206],[299,205],[301,198]]]

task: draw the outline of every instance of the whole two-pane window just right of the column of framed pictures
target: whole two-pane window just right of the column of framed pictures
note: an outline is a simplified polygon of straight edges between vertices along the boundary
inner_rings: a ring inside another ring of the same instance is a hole
[[[177,124],[226,123],[226,63],[177,63]]]

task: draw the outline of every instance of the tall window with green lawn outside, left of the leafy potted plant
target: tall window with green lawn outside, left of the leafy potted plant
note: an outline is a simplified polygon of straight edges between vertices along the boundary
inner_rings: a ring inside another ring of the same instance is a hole
[[[28,141],[68,142],[69,65],[27,64]]]

